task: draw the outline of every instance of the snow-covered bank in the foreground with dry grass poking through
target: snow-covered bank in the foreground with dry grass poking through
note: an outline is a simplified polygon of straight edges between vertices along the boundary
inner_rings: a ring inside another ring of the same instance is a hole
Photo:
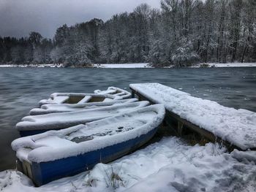
[[[254,158],[248,158],[248,157]],[[256,152],[225,152],[225,147],[208,143],[189,146],[177,137],[166,137],[126,155],[112,164],[62,178],[35,188],[28,177],[15,170],[0,172],[4,192],[48,191],[256,191]],[[116,189],[108,178],[116,173]]]

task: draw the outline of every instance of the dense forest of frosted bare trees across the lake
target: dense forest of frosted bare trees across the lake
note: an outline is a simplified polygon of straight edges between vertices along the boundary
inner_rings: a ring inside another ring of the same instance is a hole
[[[37,32],[0,37],[0,64],[149,62],[188,66],[198,62],[256,61],[255,0],[162,0],[133,12],[61,26],[53,39]]]

